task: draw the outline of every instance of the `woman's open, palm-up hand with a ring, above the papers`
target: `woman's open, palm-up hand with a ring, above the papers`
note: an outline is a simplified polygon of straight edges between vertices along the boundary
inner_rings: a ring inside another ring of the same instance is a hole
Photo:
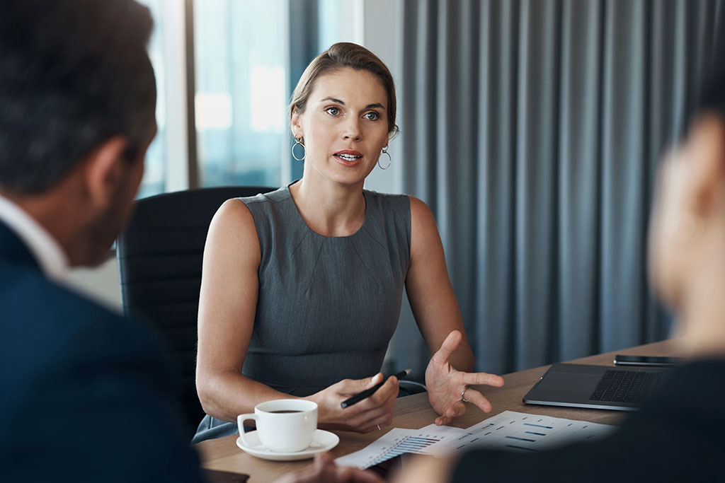
[[[457,330],[452,331],[441,344],[441,348],[434,353],[426,369],[428,400],[431,401],[436,413],[440,414],[436,418],[436,424],[439,426],[448,424],[455,416],[465,413],[463,397],[469,403],[479,406],[484,413],[491,411],[489,400],[468,385],[484,384],[495,387],[503,385],[503,378],[496,374],[462,372],[452,368],[449,360],[462,337]]]

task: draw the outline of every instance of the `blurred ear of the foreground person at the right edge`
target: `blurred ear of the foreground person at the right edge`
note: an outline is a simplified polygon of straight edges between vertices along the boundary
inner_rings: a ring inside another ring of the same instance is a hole
[[[690,189],[688,209],[708,219],[725,193],[725,124],[716,114],[695,119],[687,137]]]

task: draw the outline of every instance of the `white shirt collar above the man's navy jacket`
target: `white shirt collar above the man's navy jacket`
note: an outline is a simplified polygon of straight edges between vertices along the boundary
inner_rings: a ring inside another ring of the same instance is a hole
[[[0,196],[0,220],[28,247],[46,277],[62,282],[68,274],[68,257],[58,242],[20,206]]]

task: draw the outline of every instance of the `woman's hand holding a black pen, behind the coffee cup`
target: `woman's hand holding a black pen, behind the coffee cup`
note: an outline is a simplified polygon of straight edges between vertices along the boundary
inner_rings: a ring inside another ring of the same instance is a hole
[[[318,404],[318,427],[366,433],[388,426],[393,420],[398,396],[397,377],[389,377],[380,389],[359,403],[344,409],[340,407],[342,401],[382,380],[383,374],[379,372],[365,379],[343,379],[305,398]]]

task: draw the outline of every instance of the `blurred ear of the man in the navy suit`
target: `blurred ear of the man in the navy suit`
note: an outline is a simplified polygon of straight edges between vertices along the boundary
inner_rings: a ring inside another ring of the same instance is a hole
[[[88,201],[96,209],[109,206],[123,177],[127,142],[121,136],[109,138],[86,157],[84,183]]]

